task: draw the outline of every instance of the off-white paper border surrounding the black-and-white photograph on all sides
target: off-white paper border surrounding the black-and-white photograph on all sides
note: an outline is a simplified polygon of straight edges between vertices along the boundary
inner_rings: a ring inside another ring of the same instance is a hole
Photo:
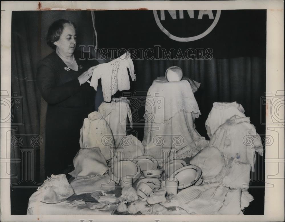
[[[1,2],[1,93],[11,95],[11,12],[24,10],[229,10],[267,9],[266,92],[284,93],[284,2],[283,1],[2,1]],[[284,95],[284,94],[283,94]],[[2,96],[2,95],[1,95]],[[1,116],[8,110],[2,109]],[[9,113],[8,113],[9,115]],[[282,115],[282,113],[281,113]],[[284,116],[284,113],[283,113]],[[266,152],[264,215],[10,215],[10,127],[1,126],[1,221],[284,221],[284,123],[274,125],[266,115],[266,135],[278,129],[278,156]],[[6,139],[7,135],[7,139]],[[7,146],[6,146],[7,144]],[[7,149],[7,152],[6,152]],[[265,147],[266,149],[266,147]],[[5,158],[3,158],[5,157]],[[6,165],[7,171],[6,172]],[[276,176],[277,175],[277,176]],[[279,175],[279,176],[278,176]]]

